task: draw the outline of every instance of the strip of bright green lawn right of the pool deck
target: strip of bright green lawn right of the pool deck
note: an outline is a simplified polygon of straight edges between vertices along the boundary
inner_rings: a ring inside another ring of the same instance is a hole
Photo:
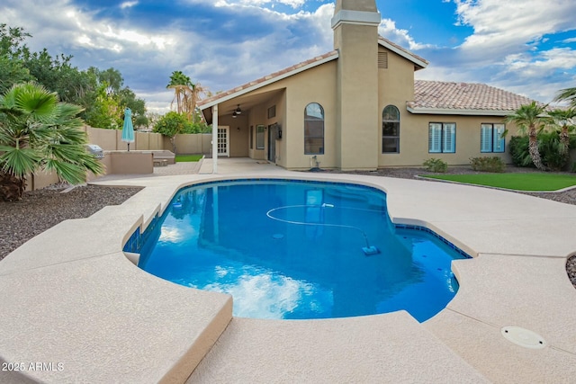
[[[517,191],[556,191],[576,185],[576,174],[423,174],[422,177]]]

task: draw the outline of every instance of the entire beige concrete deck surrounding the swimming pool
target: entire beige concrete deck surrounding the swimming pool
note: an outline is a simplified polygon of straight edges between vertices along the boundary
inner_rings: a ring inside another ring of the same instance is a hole
[[[450,183],[289,172],[249,159],[219,160],[219,174],[208,172],[211,160],[204,159],[199,174],[96,182],[146,188],[121,206],[60,223],[0,262],[0,360],[7,368],[23,364],[22,371],[0,371],[0,382],[576,378],[576,290],[565,272],[576,253],[576,206]],[[395,223],[428,227],[474,258],[453,263],[461,285],[455,299],[419,324],[403,311],[330,320],[232,317],[228,296],[162,281],[121,252],[180,186],[237,177],[381,188]],[[509,342],[505,326],[536,332],[544,348]]]

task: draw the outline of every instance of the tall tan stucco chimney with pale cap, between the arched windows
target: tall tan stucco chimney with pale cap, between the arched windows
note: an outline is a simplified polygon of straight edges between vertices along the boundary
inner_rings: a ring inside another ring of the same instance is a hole
[[[341,169],[378,167],[378,25],[375,0],[337,0],[337,156]]]

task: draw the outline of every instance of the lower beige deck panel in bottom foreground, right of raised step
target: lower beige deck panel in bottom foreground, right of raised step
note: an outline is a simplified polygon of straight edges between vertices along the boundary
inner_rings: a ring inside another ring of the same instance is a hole
[[[325,320],[234,317],[187,384],[489,382],[407,312]]]

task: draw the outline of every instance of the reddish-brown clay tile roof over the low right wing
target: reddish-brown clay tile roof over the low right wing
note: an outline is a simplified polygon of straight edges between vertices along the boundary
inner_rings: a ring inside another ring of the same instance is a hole
[[[527,97],[485,84],[416,80],[414,101],[408,103],[408,108],[416,113],[425,110],[510,112],[532,102]]]

